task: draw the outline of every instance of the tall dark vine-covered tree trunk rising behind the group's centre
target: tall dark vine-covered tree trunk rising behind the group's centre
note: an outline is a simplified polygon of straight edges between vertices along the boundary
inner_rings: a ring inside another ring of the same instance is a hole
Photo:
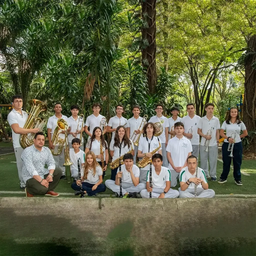
[[[142,65],[147,69],[148,89],[155,93],[156,87],[156,0],[142,1],[142,40],[148,45],[142,48]],[[146,26],[147,24],[147,26]]]

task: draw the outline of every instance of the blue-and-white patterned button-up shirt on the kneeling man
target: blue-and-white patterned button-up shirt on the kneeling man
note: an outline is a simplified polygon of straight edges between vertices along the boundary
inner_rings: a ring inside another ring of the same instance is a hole
[[[34,145],[27,147],[21,158],[23,160],[22,178],[25,184],[34,175],[39,175],[43,179],[49,170],[55,169],[55,161],[48,147],[42,147],[41,151],[37,150]],[[48,165],[48,169],[45,168],[45,164]]]

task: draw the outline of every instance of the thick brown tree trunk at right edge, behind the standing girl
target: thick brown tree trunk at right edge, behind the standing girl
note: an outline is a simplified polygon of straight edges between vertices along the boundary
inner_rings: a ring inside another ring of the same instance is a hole
[[[247,42],[247,55],[244,62],[244,106],[243,122],[248,131],[256,131],[256,35],[253,35]],[[250,53],[250,54],[248,54]],[[255,63],[252,67],[252,64]],[[248,138],[250,143],[249,151],[256,153],[256,136]]]

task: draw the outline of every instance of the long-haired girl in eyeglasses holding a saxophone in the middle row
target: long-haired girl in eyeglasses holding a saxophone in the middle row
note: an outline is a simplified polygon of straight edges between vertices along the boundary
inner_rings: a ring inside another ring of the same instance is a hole
[[[112,161],[119,158],[120,156],[126,154],[127,152],[132,151],[132,155],[134,156],[134,145],[133,142],[128,138],[126,130],[123,125],[119,125],[116,128],[115,137],[110,142],[109,145],[110,155],[112,156]],[[121,161],[122,162],[122,161]],[[119,167],[116,167],[111,170],[111,178],[115,180],[116,172]]]

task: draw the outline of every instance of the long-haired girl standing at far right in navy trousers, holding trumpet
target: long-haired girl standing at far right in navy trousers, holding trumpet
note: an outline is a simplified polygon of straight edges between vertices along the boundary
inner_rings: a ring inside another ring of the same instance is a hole
[[[224,134],[224,131],[226,130],[226,134]],[[242,134],[240,135],[242,131]],[[220,129],[220,135],[225,138],[223,144],[222,144],[222,161],[223,161],[223,171],[220,176],[220,179],[218,180],[219,184],[223,184],[227,182],[228,174],[230,171],[230,164],[231,160],[233,158],[233,176],[235,183],[238,186],[242,186],[242,180],[241,180],[241,172],[240,167],[242,164],[242,153],[243,153],[243,146],[241,138],[248,135],[248,132],[246,130],[246,126],[239,118],[239,112],[236,107],[230,108],[228,112],[228,118],[226,121],[223,122]],[[235,136],[235,138],[234,138]],[[230,144],[229,144],[230,143]],[[231,153],[231,146],[233,145],[233,157],[229,156]],[[230,148],[229,148],[230,146]],[[229,150],[228,150],[229,148]]]

